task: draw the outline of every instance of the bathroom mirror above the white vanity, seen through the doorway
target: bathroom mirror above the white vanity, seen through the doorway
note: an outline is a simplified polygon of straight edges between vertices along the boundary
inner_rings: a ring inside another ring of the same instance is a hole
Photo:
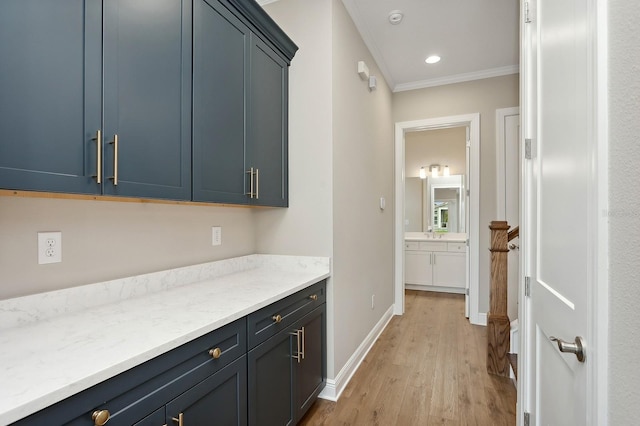
[[[465,232],[464,175],[405,179],[405,232]]]

